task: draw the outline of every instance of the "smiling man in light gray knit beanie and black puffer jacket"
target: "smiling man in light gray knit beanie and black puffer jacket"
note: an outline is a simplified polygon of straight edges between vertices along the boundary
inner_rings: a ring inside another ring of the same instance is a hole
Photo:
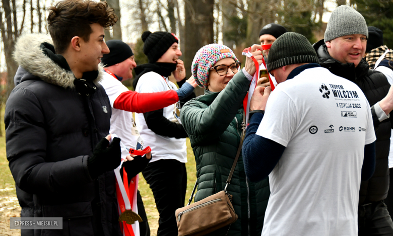
[[[383,200],[389,189],[388,153],[390,145],[393,89],[386,77],[369,69],[363,59],[366,51],[368,30],[366,21],[356,10],[340,6],[333,13],[326,27],[325,37],[313,45],[322,67],[352,81],[365,94],[373,117],[376,134],[376,164],[374,175],[360,186],[358,227],[359,235],[393,235],[393,222]],[[338,96],[338,95],[337,95]],[[345,96],[334,96],[340,103]],[[386,96],[386,97],[385,97]],[[356,111],[356,107],[342,111]],[[345,114],[345,113],[343,113]],[[343,122],[348,118],[342,115]],[[355,118],[356,119],[356,118]]]

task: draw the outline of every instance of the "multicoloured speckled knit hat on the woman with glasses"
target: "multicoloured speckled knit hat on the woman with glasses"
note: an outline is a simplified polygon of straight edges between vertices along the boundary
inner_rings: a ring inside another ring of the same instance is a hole
[[[217,61],[224,58],[233,58],[236,62],[239,62],[235,53],[229,47],[222,44],[212,43],[198,50],[192,60],[191,71],[199,87],[208,89],[207,83],[210,68]]]

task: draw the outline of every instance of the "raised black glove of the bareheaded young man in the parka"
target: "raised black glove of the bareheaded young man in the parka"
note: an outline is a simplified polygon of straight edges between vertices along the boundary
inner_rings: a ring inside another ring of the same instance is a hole
[[[112,171],[120,165],[121,149],[120,138],[113,138],[109,144],[108,139],[102,138],[94,148],[93,155],[87,160],[87,168],[92,179]]]

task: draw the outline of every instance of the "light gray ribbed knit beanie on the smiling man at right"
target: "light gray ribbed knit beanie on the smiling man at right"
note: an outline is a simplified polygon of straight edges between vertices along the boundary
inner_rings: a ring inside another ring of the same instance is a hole
[[[332,12],[328,26],[326,26],[324,41],[350,34],[364,34],[368,38],[366,20],[355,9],[340,6]]]

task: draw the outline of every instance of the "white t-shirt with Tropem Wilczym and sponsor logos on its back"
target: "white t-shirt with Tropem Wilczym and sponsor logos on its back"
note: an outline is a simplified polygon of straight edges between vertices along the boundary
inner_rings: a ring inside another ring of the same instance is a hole
[[[256,135],[286,147],[269,175],[263,236],[357,235],[364,145],[376,139],[357,85],[306,69],[277,86]]]

